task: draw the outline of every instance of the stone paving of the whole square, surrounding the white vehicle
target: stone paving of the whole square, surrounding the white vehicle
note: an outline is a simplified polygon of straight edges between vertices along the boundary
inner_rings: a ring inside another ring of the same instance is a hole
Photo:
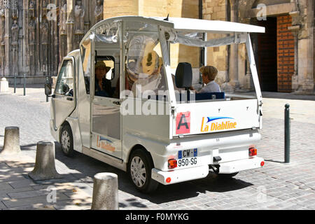
[[[315,97],[275,95],[278,99],[263,93],[262,140],[257,148],[265,167],[228,180],[209,174],[205,179],[161,185],[155,193],[144,195],[134,189],[125,172],[79,153],[66,158],[57,142],[56,169],[63,178],[29,179],[37,141],[54,140],[48,123],[50,103],[41,88],[27,89],[25,97],[21,91],[0,94],[0,150],[7,126],[20,127],[22,148],[20,155],[0,156],[0,209],[90,209],[92,178],[99,172],[118,174],[120,209],[315,209]],[[286,103],[291,112],[289,165],[283,163]],[[53,193],[55,202],[51,202]]]

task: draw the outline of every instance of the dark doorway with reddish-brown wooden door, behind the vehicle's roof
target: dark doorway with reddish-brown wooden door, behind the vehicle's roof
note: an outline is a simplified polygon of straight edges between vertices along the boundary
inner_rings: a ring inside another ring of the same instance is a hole
[[[263,5],[260,5],[263,4]],[[281,6],[292,6],[290,0],[257,0],[252,10],[265,6],[265,20],[255,24],[265,27],[265,34],[257,36],[258,77],[262,91],[292,92],[292,76],[295,73],[295,37],[288,27],[292,26],[290,10]],[[271,8],[273,10],[271,10]],[[272,12],[272,13],[270,13]],[[269,13],[269,14],[268,14]],[[253,15],[255,16],[255,15]]]

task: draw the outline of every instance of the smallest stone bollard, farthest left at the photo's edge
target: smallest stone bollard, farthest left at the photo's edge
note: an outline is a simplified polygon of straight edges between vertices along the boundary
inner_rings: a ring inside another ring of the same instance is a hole
[[[0,154],[13,155],[20,152],[20,128],[6,127],[4,130],[3,150]]]

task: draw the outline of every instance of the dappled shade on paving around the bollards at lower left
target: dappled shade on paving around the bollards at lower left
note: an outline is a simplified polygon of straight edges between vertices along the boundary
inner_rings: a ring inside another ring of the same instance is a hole
[[[29,172],[34,162],[1,158],[0,183],[12,186],[0,191],[0,203],[5,210],[90,209],[92,198],[81,196],[78,189],[69,185],[68,174],[62,179],[33,181]],[[3,185],[4,186],[4,185]]]

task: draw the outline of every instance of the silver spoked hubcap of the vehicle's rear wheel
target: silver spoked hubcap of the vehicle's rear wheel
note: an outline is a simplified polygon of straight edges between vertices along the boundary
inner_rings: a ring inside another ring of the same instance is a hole
[[[130,173],[134,184],[141,188],[146,183],[146,167],[144,162],[138,156],[132,158]]]

